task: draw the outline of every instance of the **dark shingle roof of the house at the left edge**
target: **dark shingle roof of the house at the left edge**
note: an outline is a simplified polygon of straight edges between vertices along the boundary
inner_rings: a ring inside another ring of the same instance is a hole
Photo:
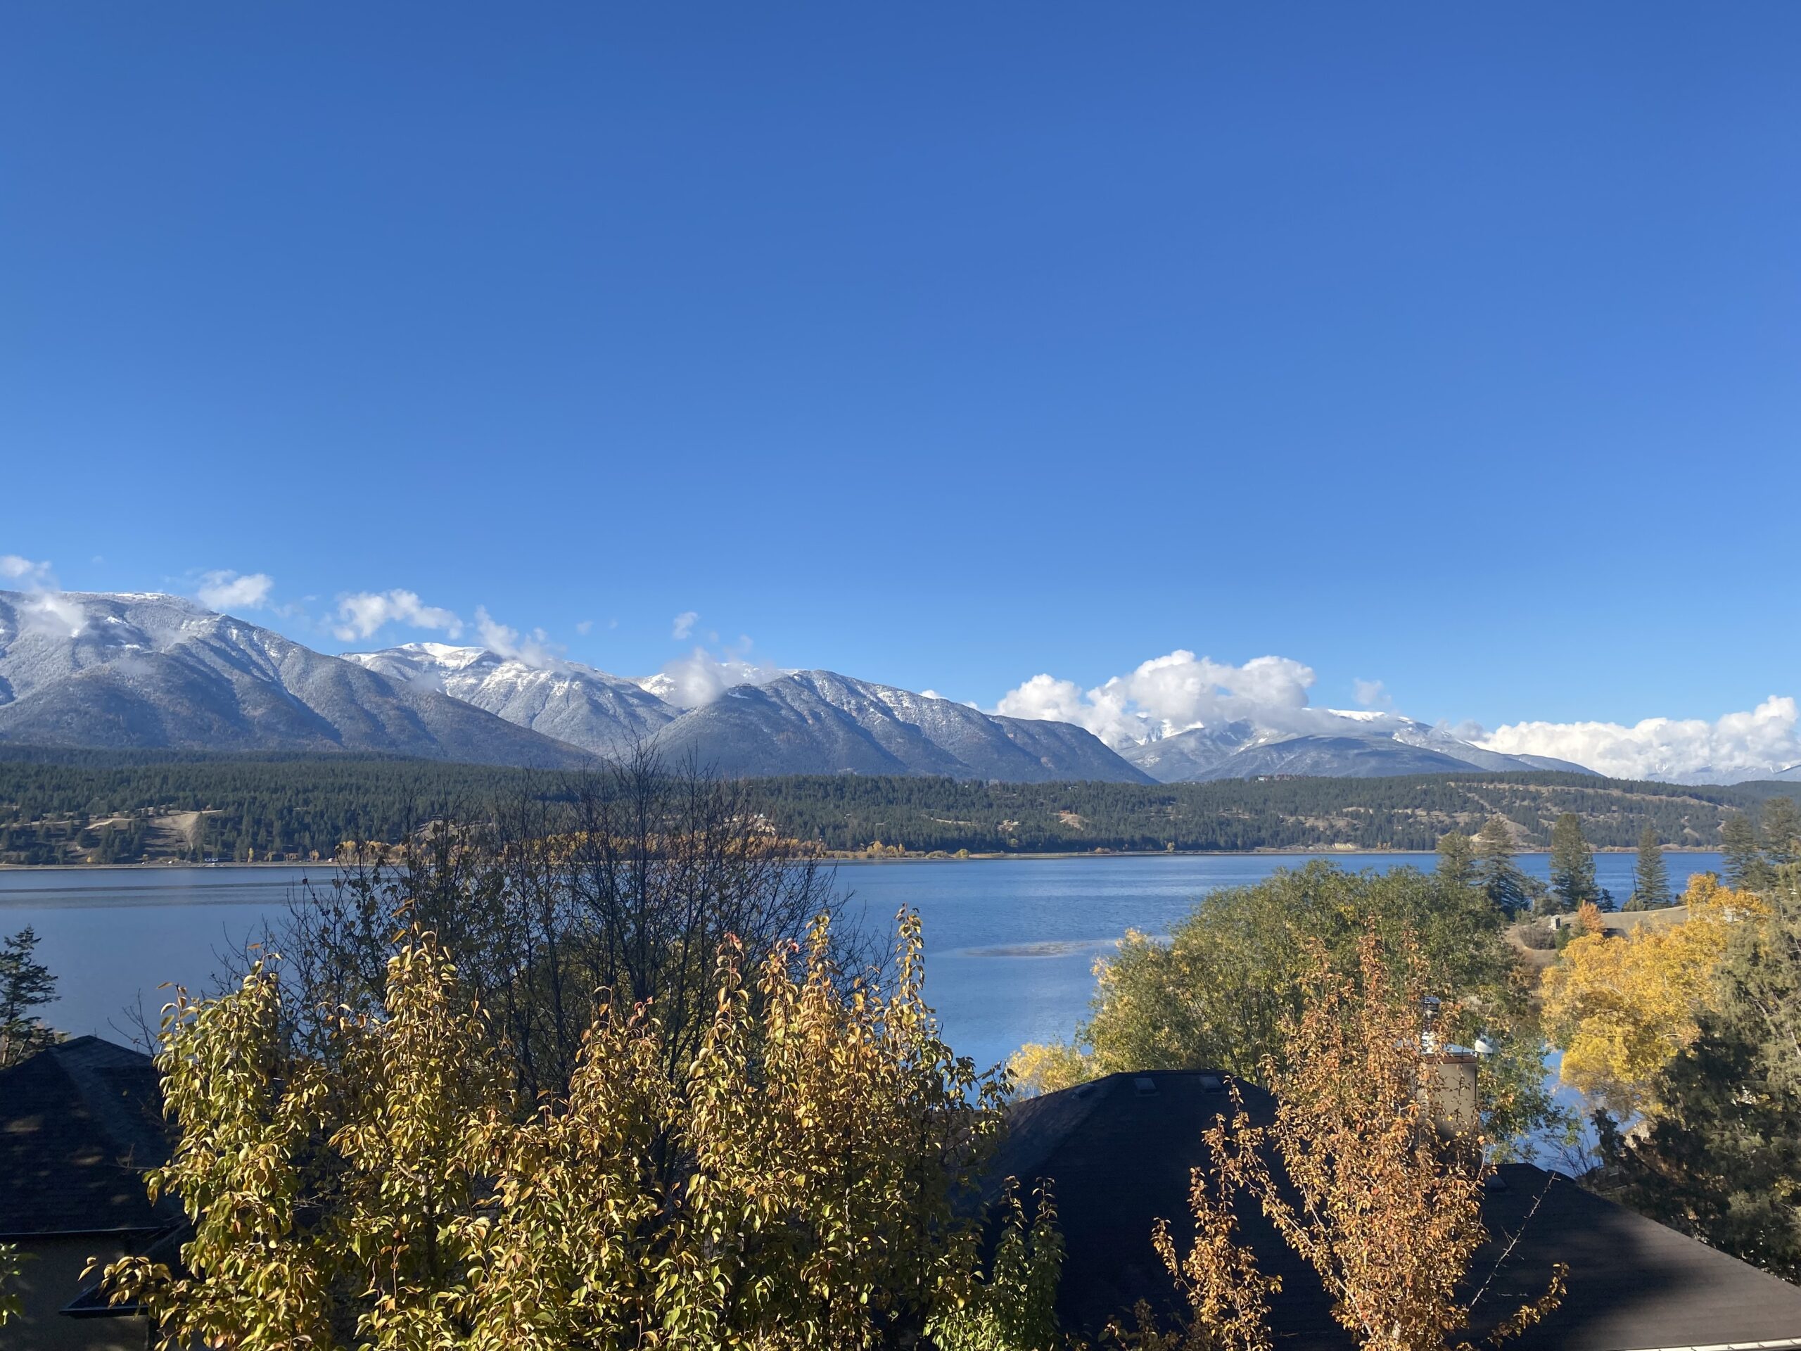
[[[0,1070],[0,1238],[167,1227],[142,1176],[167,1153],[140,1052],[88,1036]]]

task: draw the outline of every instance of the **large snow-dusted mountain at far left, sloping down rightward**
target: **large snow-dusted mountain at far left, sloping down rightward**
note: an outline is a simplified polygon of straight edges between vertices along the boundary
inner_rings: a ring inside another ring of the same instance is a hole
[[[443,694],[158,594],[0,591],[0,740],[589,762]]]

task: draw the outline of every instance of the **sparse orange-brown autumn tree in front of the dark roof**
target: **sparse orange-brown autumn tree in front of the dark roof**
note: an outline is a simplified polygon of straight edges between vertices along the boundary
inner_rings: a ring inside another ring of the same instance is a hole
[[[1333,1317],[1360,1347],[1444,1347],[1470,1324],[1459,1286],[1488,1239],[1489,1165],[1479,1135],[1434,1124],[1423,1090],[1434,1045],[1426,964],[1407,944],[1389,951],[1374,929],[1358,942],[1356,973],[1317,940],[1306,958],[1302,1012],[1284,1020],[1288,1057],[1266,1066],[1273,1124],[1253,1126],[1239,1095],[1234,1117],[1205,1133],[1210,1169],[1192,1178],[1196,1239],[1180,1263],[1192,1340],[1163,1346],[1270,1346],[1259,1306],[1272,1290],[1235,1236],[1234,1203],[1244,1196],[1313,1266]],[[1167,1227],[1154,1239],[1167,1250]],[[1165,1265],[1174,1265],[1169,1256]],[[1563,1275],[1558,1268],[1551,1288],[1504,1319],[1489,1342],[1554,1310]],[[1208,1310],[1232,1329],[1228,1340],[1203,1340]]]

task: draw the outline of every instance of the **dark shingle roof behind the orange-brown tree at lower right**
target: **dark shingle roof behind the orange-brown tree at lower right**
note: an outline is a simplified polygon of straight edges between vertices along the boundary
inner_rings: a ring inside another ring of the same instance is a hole
[[[1018,1176],[1027,1187],[1036,1178],[1054,1180],[1068,1245],[1059,1310],[1072,1331],[1091,1337],[1138,1299],[1171,1308],[1174,1292],[1151,1250],[1151,1225],[1169,1220],[1178,1248],[1187,1250],[1189,1169],[1205,1162],[1201,1129],[1230,1110],[1226,1083],[1203,1072],[1117,1074],[1014,1106],[992,1176]],[[1239,1088],[1252,1120],[1266,1122],[1273,1099],[1250,1084]],[[1525,1164],[1502,1165],[1500,1178],[1506,1187],[1484,1200],[1491,1239],[1471,1265],[1477,1279],[1495,1272],[1475,1331],[1540,1295],[1551,1265],[1563,1261],[1570,1266],[1563,1308],[1511,1347],[1801,1346],[1801,1288],[1569,1178]],[[1534,1201],[1538,1209],[1527,1220]],[[1255,1205],[1241,1205],[1237,1218],[1261,1270],[1282,1277],[1273,1308],[1277,1346],[1349,1347],[1311,1268]],[[1518,1243],[1502,1261],[1515,1236]]]

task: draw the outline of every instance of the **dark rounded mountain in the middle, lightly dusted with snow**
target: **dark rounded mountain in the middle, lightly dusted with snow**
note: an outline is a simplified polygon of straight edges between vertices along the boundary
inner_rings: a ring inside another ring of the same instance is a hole
[[[828,670],[733,686],[674,721],[656,744],[726,775],[1149,782],[1073,724],[994,717]]]

